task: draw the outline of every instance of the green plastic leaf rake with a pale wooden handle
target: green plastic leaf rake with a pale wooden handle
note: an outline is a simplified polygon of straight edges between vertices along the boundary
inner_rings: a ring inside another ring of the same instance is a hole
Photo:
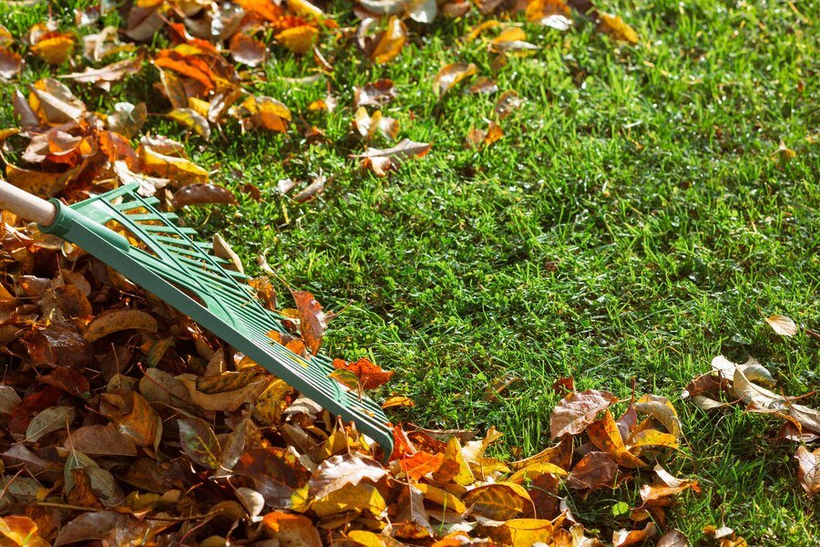
[[[273,329],[287,332],[283,316],[264,308],[251,286],[242,283],[245,275],[223,267],[228,261],[213,256],[210,243],[191,239],[195,230],[178,226],[176,214],[160,212],[159,200],[140,196],[137,188],[127,184],[66,206],[0,181],[0,208],[77,244],[190,316],[333,415],[353,421],[389,457],[393,433],[382,408],[329,377],[333,365],[327,356],[307,360],[273,342],[268,335]],[[140,244],[108,226],[124,229]]]

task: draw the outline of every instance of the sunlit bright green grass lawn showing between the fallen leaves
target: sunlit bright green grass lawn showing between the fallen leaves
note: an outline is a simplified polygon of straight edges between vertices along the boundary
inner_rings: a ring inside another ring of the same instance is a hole
[[[226,232],[246,263],[265,253],[325,307],[352,301],[333,321],[327,350],[394,369],[389,389],[417,402],[396,418],[496,426],[501,450],[528,455],[550,442],[555,379],[572,375],[580,388],[619,397],[634,381],[639,394],[671,397],[687,442],[667,465],[702,483],[701,495],[684,495],[671,511],[672,525],[693,541],[723,520],[753,544],[820,544],[817,502],[796,483],[796,447],[769,440],[778,420],[704,413],[680,398],[722,352],[756,356],[784,393],[820,387],[817,341],[778,337],[762,321],[781,313],[820,326],[818,5],[795,4],[802,15],[778,0],[602,6],[635,26],[641,45],[616,46],[589,24],[569,33],[525,26],[541,49],[510,57],[497,83],[526,103],[488,150],[463,141],[486,127],[496,96],[456,91],[439,102],[431,82],[459,60],[490,75],[486,45],[461,38],[475,15],[411,25],[414,43],[385,67],[351,46],[335,54],[332,78],[312,84],[284,79],[313,74],[309,57],[274,49],[267,81],[253,89],[303,121],[287,137],[242,134],[235,124],[210,145],[191,137],[195,159],[219,170],[215,181],[255,184],[263,199],[242,198],[232,215],[191,211],[187,222]],[[67,22],[69,12],[56,15]],[[7,16],[0,6],[15,36],[44,13]],[[35,63],[26,80],[46,72]],[[108,95],[72,88],[107,111],[115,98],[148,99],[154,77]],[[395,81],[399,97],[384,113],[399,119],[401,137],[433,142],[388,179],[350,158],[363,150],[350,129],[354,87],[378,77]],[[328,82],[340,107],[308,112]],[[2,97],[8,104],[8,88]],[[165,111],[150,99],[151,111]],[[8,108],[0,116],[3,127],[13,123]],[[327,142],[307,144],[305,123]],[[183,138],[161,119],[149,126]],[[793,159],[778,153],[781,141]],[[278,195],[279,179],[319,172],[333,179],[318,201]],[[485,400],[488,382],[508,371],[521,380]],[[622,499],[637,492],[576,498],[573,507],[608,534],[629,525],[610,511]]]

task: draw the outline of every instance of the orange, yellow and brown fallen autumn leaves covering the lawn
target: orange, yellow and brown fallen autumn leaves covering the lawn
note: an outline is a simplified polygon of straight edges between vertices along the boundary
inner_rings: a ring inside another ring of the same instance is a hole
[[[15,81],[28,55],[58,68],[70,66],[59,79],[16,88],[20,128],[3,137],[9,181],[69,202],[138,181],[141,194],[158,194],[168,209],[236,203],[230,191],[210,182],[210,171],[191,160],[181,143],[143,136],[136,148],[132,145],[148,109],[204,141],[229,123],[243,131],[288,134],[297,117],[280,98],[249,92],[255,71],[286,49],[313,53],[319,69],[332,72],[325,56],[332,59],[333,52],[323,49],[322,40],[340,32],[339,26],[303,0],[193,2],[182,9],[170,4],[134,3],[126,8],[124,28],[101,28],[83,36],[81,44],[51,23],[33,26],[19,40],[0,33],[0,78]],[[640,42],[623,19],[588,2],[534,0],[516,9],[531,23],[566,32],[573,26],[570,6],[616,42]],[[77,25],[97,25],[104,9],[105,3],[78,11]],[[364,61],[388,64],[415,47],[407,18],[426,25],[470,9],[459,1],[363,0],[354,8],[361,19],[355,42]],[[506,8],[488,0],[475,9],[497,15]],[[165,47],[147,46],[159,34],[165,35],[159,41]],[[475,27],[468,39],[479,36],[497,53],[494,74],[507,55],[539,48],[528,42],[523,28],[495,19]],[[76,62],[77,49],[82,59]],[[108,90],[148,65],[158,70],[155,88],[171,107],[163,112],[137,100],[109,107],[106,116],[87,108],[67,85]],[[466,93],[496,93],[495,81],[479,72],[477,65],[456,60],[440,70],[433,93],[443,98],[470,78],[475,80]],[[383,113],[397,96],[389,79],[354,90],[357,110],[351,122],[363,141],[397,138],[398,121]],[[468,142],[486,148],[501,139],[503,120],[522,101],[507,90],[497,99],[495,120],[487,119],[487,129],[473,129]],[[321,102],[309,109],[335,108],[330,88]],[[402,139],[383,149],[364,144],[364,151],[352,156],[384,176],[431,148]],[[313,178],[293,199],[313,200],[327,180]],[[281,182],[282,193],[295,185]],[[159,192],[166,188],[170,191]],[[531,458],[487,456],[500,437],[494,428],[476,439],[474,431],[396,423],[396,449],[384,462],[380,449],[353,425],[330,416],[189,318],[72,245],[42,239],[34,226],[13,215],[4,214],[4,221],[0,336],[15,367],[0,385],[6,433],[0,444],[6,492],[0,533],[14,544],[265,544],[275,537],[306,545],[595,545],[600,540],[588,537],[566,497],[626,482],[640,484],[642,504],[627,507],[634,524],[614,531],[611,542],[629,545],[661,536],[659,544],[687,543],[681,532],[661,532],[673,498],[697,494],[698,481],[675,478],[660,463],[650,478],[651,462],[678,449],[682,439],[680,419],[665,397],[633,397],[616,419],[618,397],[576,391],[571,378],[564,378],[564,397],[550,418],[556,444]],[[241,271],[224,240],[216,247]],[[269,280],[251,284],[270,309],[292,320],[292,333],[272,335],[272,343],[315,355],[334,315],[306,291],[292,291],[293,313],[279,309]],[[28,300],[32,294],[34,304]],[[766,321],[779,335],[796,334],[787,317]],[[336,379],[357,389],[389,385],[393,376],[364,357],[337,358],[333,366]],[[713,366],[711,374],[687,387],[697,406],[743,403],[747,411],[783,418],[782,439],[820,437],[817,411],[764,387],[773,380],[759,364]],[[504,397],[516,380],[499,378],[487,387],[487,401]],[[384,408],[415,404],[400,394],[384,400]],[[817,450],[801,446],[795,459],[800,484],[815,494]],[[652,520],[642,523],[649,516]],[[734,541],[731,530],[728,535]]]

